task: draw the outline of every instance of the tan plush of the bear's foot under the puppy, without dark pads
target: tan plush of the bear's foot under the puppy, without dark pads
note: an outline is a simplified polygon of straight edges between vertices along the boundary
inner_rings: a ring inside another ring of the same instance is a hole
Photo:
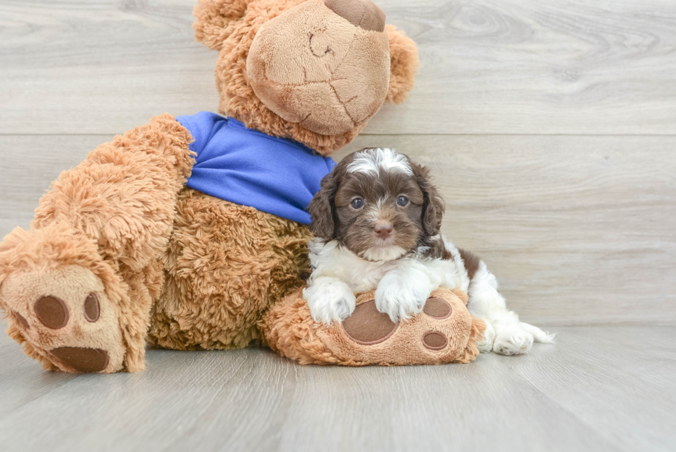
[[[389,335],[364,344],[355,341],[350,333],[368,334],[363,328],[372,328],[372,321],[360,326],[361,329],[355,327],[355,331],[339,322],[330,325],[315,322],[301,294],[292,293],[272,306],[266,315],[263,326],[266,343],[282,356],[301,364],[391,366],[467,363],[474,360],[479,355],[476,342],[483,337],[485,325],[468,313],[465,308],[467,295],[444,288],[431,295],[444,299],[452,306],[448,317],[437,318],[420,313],[409,322],[391,324],[394,331]],[[374,297],[373,292],[357,294],[356,306],[372,302]],[[388,320],[379,319],[377,322]],[[437,349],[426,346],[425,338],[430,333],[441,337],[439,346],[435,347]]]

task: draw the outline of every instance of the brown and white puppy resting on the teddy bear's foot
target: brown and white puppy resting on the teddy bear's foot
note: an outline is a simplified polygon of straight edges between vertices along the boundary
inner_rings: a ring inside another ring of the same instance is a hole
[[[315,237],[304,298],[315,321],[341,322],[355,309],[354,294],[374,289],[378,310],[406,321],[443,286],[468,293],[470,313],[486,321],[481,351],[515,355],[533,340],[553,342],[506,308],[481,259],[440,234],[444,210],[430,171],[406,155],[366,148],[345,157],[310,204]]]

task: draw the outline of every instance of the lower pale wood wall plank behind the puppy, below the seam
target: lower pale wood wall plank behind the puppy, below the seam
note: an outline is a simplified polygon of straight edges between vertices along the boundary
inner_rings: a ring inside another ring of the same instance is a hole
[[[14,150],[0,160],[0,237],[110,138],[0,137]],[[676,322],[676,137],[364,136],[336,158],[364,146],[432,168],[444,233],[486,260],[523,320]]]

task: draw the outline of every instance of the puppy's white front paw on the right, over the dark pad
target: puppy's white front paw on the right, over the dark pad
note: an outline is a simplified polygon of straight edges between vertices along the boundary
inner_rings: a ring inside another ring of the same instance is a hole
[[[401,275],[386,275],[375,291],[375,306],[389,315],[392,322],[406,321],[422,312],[430,293],[429,284]]]

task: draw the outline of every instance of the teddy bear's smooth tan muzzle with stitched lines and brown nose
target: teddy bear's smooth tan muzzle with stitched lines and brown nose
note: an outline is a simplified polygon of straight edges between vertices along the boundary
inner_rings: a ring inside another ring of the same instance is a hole
[[[370,0],[308,0],[259,28],[246,75],[265,106],[320,135],[363,126],[385,101],[385,14]]]

